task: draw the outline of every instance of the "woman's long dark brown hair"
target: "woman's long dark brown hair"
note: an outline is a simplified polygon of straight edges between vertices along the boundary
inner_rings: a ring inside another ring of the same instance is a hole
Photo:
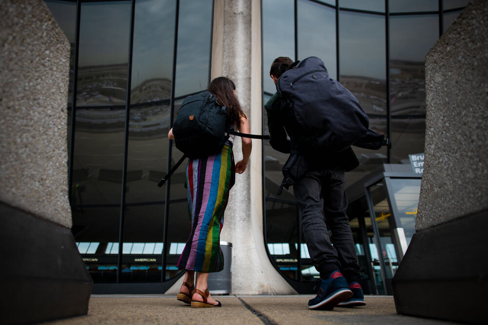
[[[225,77],[217,77],[208,85],[208,91],[217,97],[219,103],[227,107],[227,124],[239,128],[241,117],[247,119],[239,100],[234,95],[236,85]]]

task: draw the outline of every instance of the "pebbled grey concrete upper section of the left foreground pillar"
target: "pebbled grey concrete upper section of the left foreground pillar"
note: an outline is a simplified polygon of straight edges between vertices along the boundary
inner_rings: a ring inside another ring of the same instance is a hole
[[[65,227],[69,51],[43,1],[0,1],[0,201]]]

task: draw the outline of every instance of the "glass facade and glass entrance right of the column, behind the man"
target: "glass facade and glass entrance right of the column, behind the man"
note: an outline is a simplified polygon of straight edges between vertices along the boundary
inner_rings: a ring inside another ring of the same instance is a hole
[[[368,188],[364,180],[383,164],[405,166],[409,154],[424,152],[425,57],[466,5],[462,0],[262,0],[263,102],[276,91],[269,77],[275,58],[316,56],[331,78],[356,96],[370,127],[391,139],[391,148],[353,147],[361,164],[346,173],[348,192],[358,183],[362,191],[349,198],[347,214],[366,293],[391,294],[391,278],[415,232],[421,178],[384,177]],[[263,125],[265,134],[265,114]],[[272,262],[300,291],[318,272],[306,249],[296,249],[306,244],[291,188],[277,196],[287,158],[264,143],[265,240]]]

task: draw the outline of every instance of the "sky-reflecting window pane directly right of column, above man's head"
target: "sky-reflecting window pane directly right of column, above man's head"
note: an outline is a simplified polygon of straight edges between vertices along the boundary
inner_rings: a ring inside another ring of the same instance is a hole
[[[278,57],[295,58],[295,21],[293,0],[263,0],[263,90],[274,93],[269,77],[271,63]]]

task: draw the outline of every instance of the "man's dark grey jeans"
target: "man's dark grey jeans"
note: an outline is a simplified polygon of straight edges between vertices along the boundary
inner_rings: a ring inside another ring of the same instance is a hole
[[[359,281],[360,274],[346,215],[344,174],[344,170],[337,168],[309,171],[295,181],[293,191],[302,214],[308,252],[321,278],[327,279],[330,273],[340,270],[351,283]],[[331,231],[330,237],[326,225]]]

